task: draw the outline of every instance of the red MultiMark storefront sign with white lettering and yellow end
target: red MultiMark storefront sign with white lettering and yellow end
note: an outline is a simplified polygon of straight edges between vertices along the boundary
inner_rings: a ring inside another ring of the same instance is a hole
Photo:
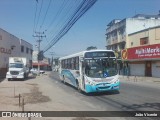
[[[160,44],[134,47],[122,50],[123,60],[150,59],[150,58],[160,59]]]

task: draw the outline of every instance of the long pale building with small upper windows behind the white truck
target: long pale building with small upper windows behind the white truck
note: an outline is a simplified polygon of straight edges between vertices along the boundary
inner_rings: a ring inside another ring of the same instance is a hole
[[[32,44],[0,28],[0,76],[7,72],[9,57],[26,57],[32,63],[32,51]]]

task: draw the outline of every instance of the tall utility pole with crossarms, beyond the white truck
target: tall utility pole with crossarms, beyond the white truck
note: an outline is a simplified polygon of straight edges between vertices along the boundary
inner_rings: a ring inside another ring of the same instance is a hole
[[[33,37],[38,37],[38,54],[37,54],[37,61],[38,61],[38,75],[40,74],[40,44],[42,42],[43,37],[46,37],[44,35],[44,32],[35,32],[36,35],[33,35]]]

